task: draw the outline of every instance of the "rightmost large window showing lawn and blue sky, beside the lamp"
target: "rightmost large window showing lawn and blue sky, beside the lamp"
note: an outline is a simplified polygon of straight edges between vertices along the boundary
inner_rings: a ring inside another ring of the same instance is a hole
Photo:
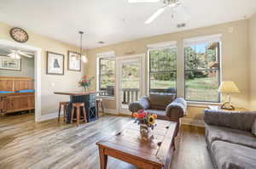
[[[185,99],[220,102],[220,37],[184,42]]]

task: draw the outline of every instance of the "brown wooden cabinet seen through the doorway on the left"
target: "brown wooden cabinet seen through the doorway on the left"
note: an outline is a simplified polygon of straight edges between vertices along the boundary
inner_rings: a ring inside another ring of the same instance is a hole
[[[33,88],[33,80],[30,77],[0,76],[0,91],[14,92],[0,94],[0,114],[35,109],[34,93],[16,93]]]

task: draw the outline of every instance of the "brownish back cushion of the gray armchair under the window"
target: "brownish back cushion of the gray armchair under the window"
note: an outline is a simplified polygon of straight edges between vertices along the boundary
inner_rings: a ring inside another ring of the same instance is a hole
[[[150,94],[150,109],[166,110],[166,106],[176,98],[176,94]]]

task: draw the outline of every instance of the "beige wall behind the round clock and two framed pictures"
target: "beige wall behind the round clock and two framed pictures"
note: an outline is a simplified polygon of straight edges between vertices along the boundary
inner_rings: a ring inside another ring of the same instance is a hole
[[[9,30],[12,26],[0,23],[0,39],[14,41],[9,36]],[[26,28],[25,28],[26,29]],[[67,70],[67,51],[79,51],[72,45],[68,45],[63,42],[58,42],[49,37],[43,37],[28,31],[29,40],[27,45],[33,47],[42,48],[42,115],[48,115],[55,113],[58,109],[58,103],[60,101],[67,101],[67,96],[55,95],[54,91],[72,91],[79,90],[77,82],[84,72],[84,65],[82,65],[82,71]],[[59,54],[65,54],[65,72],[64,76],[46,75],[46,51],[51,51]]]

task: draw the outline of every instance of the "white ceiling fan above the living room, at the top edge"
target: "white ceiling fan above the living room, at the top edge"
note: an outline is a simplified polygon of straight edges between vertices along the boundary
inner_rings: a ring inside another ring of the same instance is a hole
[[[174,12],[179,14],[187,14],[185,8],[179,0],[128,0],[128,3],[164,3],[164,6],[159,8],[157,11],[152,14],[148,20],[145,21],[145,24],[150,24],[153,22],[160,14],[162,14],[167,8],[172,10],[172,19],[174,18]],[[187,14],[189,15],[189,14]]]

